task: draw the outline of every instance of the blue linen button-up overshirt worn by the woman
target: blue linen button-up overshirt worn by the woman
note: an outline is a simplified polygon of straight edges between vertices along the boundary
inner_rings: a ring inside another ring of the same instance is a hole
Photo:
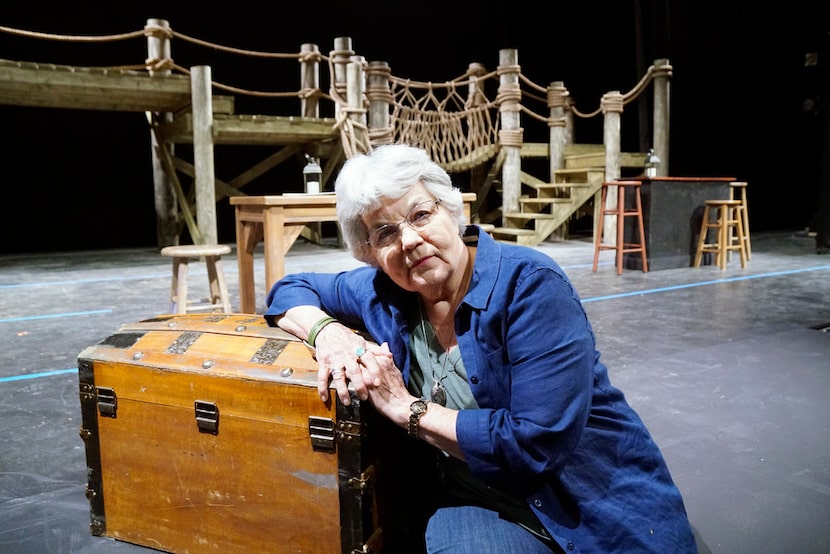
[[[417,302],[370,267],[299,273],[272,287],[265,317],[274,325],[291,307],[318,306],[388,343],[408,382],[407,320]],[[555,261],[481,233],[455,329],[480,406],[456,423],[474,474],[525,498],[566,552],[697,552],[665,460],[611,385]]]

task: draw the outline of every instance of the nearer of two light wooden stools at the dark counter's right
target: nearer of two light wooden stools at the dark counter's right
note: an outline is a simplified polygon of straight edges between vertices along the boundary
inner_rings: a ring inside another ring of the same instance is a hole
[[[714,218],[711,217],[712,212]],[[700,259],[704,252],[711,252],[715,254],[715,264],[721,269],[726,269],[727,256],[733,250],[737,250],[741,255],[741,267],[746,267],[746,241],[741,214],[740,200],[706,201],[695,252],[695,267],[700,267]],[[708,240],[709,229],[716,230],[712,242]],[[737,242],[732,240],[733,232],[737,233]]]

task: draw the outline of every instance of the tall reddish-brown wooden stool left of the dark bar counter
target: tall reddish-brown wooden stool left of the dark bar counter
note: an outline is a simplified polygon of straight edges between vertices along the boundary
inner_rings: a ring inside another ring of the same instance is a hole
[[[617,187],[617,206],[616,208],[607,208],[608,187]],[[639,252],[643,260],[643,272],[648,271],[648,258],[646,256],[645,245],[645,229],[643,227],[643,205],[640,197],[640,181],[606,181],[602,183],[602,200],[600,202],[599,215],[600,220],[597,223],[596,241],[594,248],[594,272],[597,270],[597,263],[599,262],[600,250],[614,250],[617,260],[617,275],[622,274],[623,254]],[[633,190],[634,208],[626,208],[625,206],[625,191],[626,189]],[[617,222],[617,240],[614,244],[603,244],[602,235],[605,227],[605,216],[610,215],[616,218]],[[625,242],[625,218],[634,217],[637,222],[637,231],[639,233],[638,242]]]

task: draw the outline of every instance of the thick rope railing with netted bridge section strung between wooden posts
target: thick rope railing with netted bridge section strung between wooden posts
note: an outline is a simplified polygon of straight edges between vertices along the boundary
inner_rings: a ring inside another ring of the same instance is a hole
[[[155,20],[150,20],[155,21]],[[334,59],[342,52],[332,51],[329,56],[316,51],[300,53],[277,53],[248,50],[225,46],[189,36],[162,25],[148,23],[143,29],[112,35],[59,35],[14,29],[0,26],[0,32],[14,34],[39,40],[61,42],[113,42],[147,37],[176,39],[199,47],[228,54],[263,58],[271,60],[289,60],[297,63],[327,63],[330,85],[328,93],[316,88],[302,88],[291,91],[261,91],[232,86],[221,81],[211,81],[218,90],[238,95],[263,98],[298,98],[300,100],[317,100],[324,98],[335,104],[335,129],[340,131],[343,149],[347,157],[357,152],[366,152],[373,145],[389,142],[408,143],[425,148],[432,157],[445,168],[467,169],[479,165],[495,156],[500,146],[508,141],[521,144],[521,129],[499,129],[499,113],[505,110],[521,112],[530,119],[545,123],[548,127],[565,125],[562,117],[551,115],[552,108],[563,106],[569,113],[588,119],[608,110],[622,111],[622,107],[634,101],[646,90],[654,78],[657,69],[670,74],[671,67],[655,68],[651,66],[640,81],[627,93],[604,94],[600,106],[594,111],[585,112],[576,108],[567,98],[567,91],[553,91],[534,83],[521,73],[519,66],[500,66],[495,71],[473,75],[471,70],[445,81],[413,81],[389,76],[389,92],[371,90],[373,95],[385,99],[390,107],[390,129],[372,129],[361,122],[357,112],[365,114],[368,100],[363,106],[350,106],[345,99],[345,85],[335,78]],[[352,57],[354,59],[354,56]],[[190,76],[190,70],[176,63],[172,58],[147,59],[141,64],[109,67],[119,70],[145,70],[150,72],[170,71]],[[364,62],[365,69],[365,62]],[[518,82],[511,85],[499,85],[495,95],[488,97],[486,85],[497,82],[501,75],[512,73],[518,75]],[[534,109],[541,106],[546,110]],[[355,115],[358,115],[355,117]]]

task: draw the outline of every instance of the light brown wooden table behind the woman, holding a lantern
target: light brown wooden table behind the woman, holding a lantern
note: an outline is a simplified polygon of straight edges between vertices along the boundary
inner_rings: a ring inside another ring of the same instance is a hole
[[[464,193],[470,220],[474,193]],[[239,264],[240,312],[256,313],[254,249],[264,242],[266,290],[285,276],[285,255],[309,223],[337,221],[334,194],[233,196],[236,211],[236,255]]]

